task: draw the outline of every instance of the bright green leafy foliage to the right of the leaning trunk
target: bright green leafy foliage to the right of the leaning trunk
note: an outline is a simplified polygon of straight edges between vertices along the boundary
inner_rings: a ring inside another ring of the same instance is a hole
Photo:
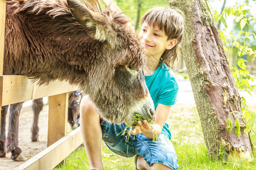
[[[235,18],[232,31],[228,31],[228,25],[226,24],[228,16],[233,16]],[[255,92],[255,88],[250,86],[249,81],[253,81],[255,76],[250,75],[247,68],[256,57],[256,18],[255,16],[251,16],[249,7],[246,3],[225,7],[222,14],[218,14],[215,10],[213,11],[213,17],[216,19],[217,23],[222,22],[225,27],[219,32],[224,45],[224,51],[230,64],[230,71],[234,78],[234,82],[236,83],[238,90],[246,91],[251,95],[251,92]],[[241,99],[243,120],[247,122],[251,118],[251,113],[247,107],[245,98],[242,97]],[[230,120],[227,120],[227,128],[229,128],[228,122],[230,124]],[[239,121],[236,120],[236,127],[240,128],[238,125]],[[246,132],[248,131],[248,127],[249,126],[246,125]],[[240,134],[240,129],[236,129],[236,134]]]

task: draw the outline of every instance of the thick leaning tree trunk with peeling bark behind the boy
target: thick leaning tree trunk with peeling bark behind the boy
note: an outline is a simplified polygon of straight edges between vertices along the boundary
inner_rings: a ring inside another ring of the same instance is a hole
[[[253,146],[245,133],[241,99],[230,73],[222,42],[206,0],[168,0],[184,12],[185,31],[181,49],[191,80],[210,159],[254,159]],[[226,120],[233,121],[232,132]],[[235,133],[235,120],[241,134]]]

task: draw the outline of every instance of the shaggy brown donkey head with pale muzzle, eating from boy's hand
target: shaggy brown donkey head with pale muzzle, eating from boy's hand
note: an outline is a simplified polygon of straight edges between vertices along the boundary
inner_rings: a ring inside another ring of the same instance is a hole
[[[98,113],[116,124],[130,124],[135,113],[152,120],[154,104],[142,71],[146,57],[126,17],[118,12],[96,11],[75,0],[67,2],[85,33],[96,41],[95,50],[99,50],[84,87]]]

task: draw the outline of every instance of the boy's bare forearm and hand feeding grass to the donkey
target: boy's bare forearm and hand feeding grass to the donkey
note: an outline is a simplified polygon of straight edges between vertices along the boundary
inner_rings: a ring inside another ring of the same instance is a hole
[[[134,130],[130,130],[130,134],[135,135],[142,133],[145,137],[153,139],[161,134],[164,123],[166,122],[169,113],[171,111],[171,105],[158,104],[155,110],[154,124],[149,125],[147,120],[138,121],[139,126],[135,126]]]

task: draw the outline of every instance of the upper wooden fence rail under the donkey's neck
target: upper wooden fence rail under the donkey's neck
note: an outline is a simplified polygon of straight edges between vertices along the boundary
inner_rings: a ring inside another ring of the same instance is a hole
[[[24,75],[1,75],[0,88],[1,106],[79,89],[59,80],[49,83],[48,86],[39,86]]]

